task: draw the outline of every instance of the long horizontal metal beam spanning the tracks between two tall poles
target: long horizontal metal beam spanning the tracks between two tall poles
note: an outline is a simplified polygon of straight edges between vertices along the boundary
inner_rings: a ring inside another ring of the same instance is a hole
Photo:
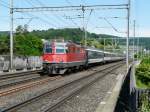
[[[80,6],[60,6],[60,7],[31,7],[31,8],[13,8],[14,12],[38,12],[38,11],[77,11],[77,10],[110,10],[127,9],[127,4],[119,5],[80,5]]]

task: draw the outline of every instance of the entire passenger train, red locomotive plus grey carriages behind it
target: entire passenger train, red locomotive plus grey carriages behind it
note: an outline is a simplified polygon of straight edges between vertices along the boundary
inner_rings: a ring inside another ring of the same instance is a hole
[[[64,74],[66,71],[87,68],[90,65],[123,60],[124,55],[85,48],[73,42],[44,43],[43,73]]]

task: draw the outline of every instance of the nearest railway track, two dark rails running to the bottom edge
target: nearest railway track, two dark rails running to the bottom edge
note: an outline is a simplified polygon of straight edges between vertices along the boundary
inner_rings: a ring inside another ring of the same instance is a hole
[[[95,70],[95,72],[92,74],[67,82],[63,85],[55,87],[49,90],[48,92],[40,94],[22,103],[5,108],[4,110],[2,110],[2,112],[34,111],[34,109],[40,108],[45,105],[46,107],[40,108],[42,109],[40,111],[44,111],[44,112],[52,111],[56,109],[59,105],[61,105],[64,101],[78,94],[84,88],[92,85],[97,80],[102,79],[112,71],[119,68],[121,65],[123,65],[123,62],[118,62],[117,64],[111,64],[111,66],[108,66],[107,68],[104,68],[102,70]]]

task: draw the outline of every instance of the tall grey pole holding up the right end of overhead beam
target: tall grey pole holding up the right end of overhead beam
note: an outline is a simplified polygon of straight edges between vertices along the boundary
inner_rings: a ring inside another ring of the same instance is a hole
[[[130,36],[130,0],[128,0],[128,7],[127,7],[127,39],[126,39],[126,65],[127,65],[127,72],[129,69],[129,36]]]

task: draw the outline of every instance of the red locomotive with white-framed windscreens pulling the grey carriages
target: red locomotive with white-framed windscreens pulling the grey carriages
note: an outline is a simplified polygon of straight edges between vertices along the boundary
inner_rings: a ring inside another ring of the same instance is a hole
[[[63,74],[67,70],[84,67],[86,63],[86,50],[80,45],[56,41],[44,44],[44,73]]]

